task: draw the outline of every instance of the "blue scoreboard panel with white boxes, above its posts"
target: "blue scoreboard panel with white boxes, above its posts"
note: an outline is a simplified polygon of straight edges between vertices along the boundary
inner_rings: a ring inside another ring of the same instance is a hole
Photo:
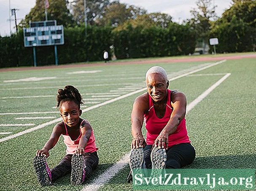
[[[29,28],[23,29],[24,47],[51,46],[64,44],[62,25],[56,21],[31,22]]]

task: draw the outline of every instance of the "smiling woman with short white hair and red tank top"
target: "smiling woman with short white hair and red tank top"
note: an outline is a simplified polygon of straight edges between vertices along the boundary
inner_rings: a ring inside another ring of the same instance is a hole
[[[132,108],[131,170],[181,168],[190,164],[195,150],[186,129],[186,96],[168,89],[167,73],[159,66],[147,71],[146,86],[148,92],[138,96]],[[146,140],[141,131],[143,120]],[[127,180],[132,180],[131,173]]]

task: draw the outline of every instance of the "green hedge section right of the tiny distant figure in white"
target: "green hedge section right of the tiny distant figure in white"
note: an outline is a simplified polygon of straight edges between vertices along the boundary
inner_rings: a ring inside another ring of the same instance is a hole
[[[196,39],[188,25],[171,24],[168,29],[143,26],[113,31],[116,57],[143,58],[194,53]]]

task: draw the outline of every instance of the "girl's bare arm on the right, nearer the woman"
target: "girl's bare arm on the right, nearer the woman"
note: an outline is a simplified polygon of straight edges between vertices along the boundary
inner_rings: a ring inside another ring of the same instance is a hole
[[[82,127],[80,127],[80,128],[81,128],[82,136],[79,141],[78,148],[75,151],[76,155],[84,154],[84,149],[85,149],[85,147],[91,137],[91,134],[92,134],[92,126],[87,121],[84,121],[82,124]]]

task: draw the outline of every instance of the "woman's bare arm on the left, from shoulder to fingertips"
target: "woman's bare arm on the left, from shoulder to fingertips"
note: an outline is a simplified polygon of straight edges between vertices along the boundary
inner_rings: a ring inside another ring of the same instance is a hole
[[[141,128],[143,125],[143,115],[146,111],[146,108],[148,107],[147,102],[147,94],[143,94],[139,97],[137,97],[134,101],[133,107],[132,107],[132,114],[131,114],[131,120],[132,120],[132,144],[131,148],[140,148],[145,147],[146,142],[143,138]]]

